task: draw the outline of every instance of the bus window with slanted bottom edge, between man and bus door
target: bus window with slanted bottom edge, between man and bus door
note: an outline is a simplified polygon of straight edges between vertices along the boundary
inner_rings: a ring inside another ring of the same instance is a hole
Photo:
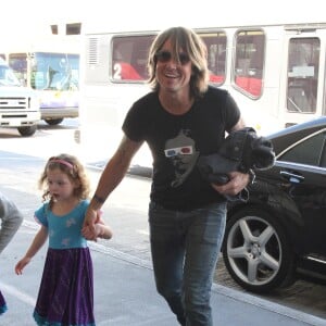
[[[240,30],[236,34],[234,83],[253,98],[262,93],[265,35],[262,30]]]

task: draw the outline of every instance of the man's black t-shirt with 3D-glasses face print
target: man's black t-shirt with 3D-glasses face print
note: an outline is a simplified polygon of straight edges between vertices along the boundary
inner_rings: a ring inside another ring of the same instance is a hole
[[[209,87],[183,115],[165,111],[158,92],[140,98],[123,124],[125,135],[148,142],[153,156],[150,198],[166,209],[187,211],[225,201],[200,175],[199,155],[215,153],[239,121],[240,111],[226,90]]]

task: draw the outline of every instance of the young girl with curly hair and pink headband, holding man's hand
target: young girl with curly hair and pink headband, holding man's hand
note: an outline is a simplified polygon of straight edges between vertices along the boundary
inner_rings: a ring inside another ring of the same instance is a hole
[[[90,190],[85,170],[75,156],[50,158],[39,186],[45,190],[46,202],[35,212],[35,217],[41,227],[15,266],[15,273],[21,275],[49,237],[34,318],[37,325],[96,325],[92,261],[82,235]],[[96,233],[101,238],[112,237],[100,215]]]

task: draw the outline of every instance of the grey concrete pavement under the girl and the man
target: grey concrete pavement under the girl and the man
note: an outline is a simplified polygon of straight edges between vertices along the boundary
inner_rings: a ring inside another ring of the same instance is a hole
[[[24,222],[15,238],[1,254],[0,288],[9,310],[0,316],[3,326],[35,325],[32,313],[45,262],[46,247],[22,276],[14,265],[29,246],[38,226]],[[90,243],[95,267],[95,313],[98,326],[178,325],[165,301],[155,292],[151,263]],[[303,326],[326,325],[326,321],[284,308],[247,293],[214,285],[214,325]]]

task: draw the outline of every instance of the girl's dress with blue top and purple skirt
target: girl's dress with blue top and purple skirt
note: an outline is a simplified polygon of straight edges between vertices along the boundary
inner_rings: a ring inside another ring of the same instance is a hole
[[[36,220],[49,230],[49,248],[34,311],[37,325],[95,326],[93,272],[82,227],[89,202],[55,216],[45,203]]]

